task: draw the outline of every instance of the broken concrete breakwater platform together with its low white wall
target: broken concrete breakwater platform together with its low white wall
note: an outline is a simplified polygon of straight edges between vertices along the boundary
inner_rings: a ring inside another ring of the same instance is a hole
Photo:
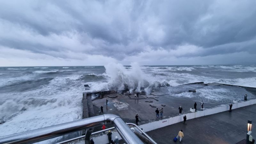
[[[252,105],[256,103],[255,92],[256,88],[252,87],[244,87],[237,85],[229,85],[229,84],[217,84],[217,83],[209,83],[204,84],[204,82],[193,83],[193,84],[185,84],[180,86],[182,90],[181,93],[189,93],[189,89],[201,88],[209,89],[212,91],[216,91],[217,94],[221,94],[220,98],[226,98],[225,96],[230,95],[230,92],[233,92],[233,97],[220,100],[220,101],[205,101],[204,107],[207,108],[203,111],[197,111],[192,113],[189,111],[190,108],[194,106],[194,102],[200,102],[201,99],[198,99],[196,96],[200,93],[200,91],[196,91],[191,93],[191,95],[195,95],[194,97],[174,97],[172,95],[166,95],[162,91],[165,89],[171,89],[172,87],[166,87],[163,89],[158,89],[154,92],[151,92],[150,95],[145,95],[145,93],[140,93],[139,99],[134,98],[134,93],[125,93],[125,91],[103,91],[103,92],[92,92],[92,93],[83,93],[83,100],[90,99],[92,95],[97,95],[98,98],[95,100],[84,100],[87,102],[87,107],[89,105],[93,105],[94,115],[100,115],[95,108],[99,108],[101,105],[104,107],[105,114],[116,114],[120,116],[125,122],[135,123],[134,116],[139,114],[139,127],[143,128],[144,132],[148,132],[151,130],[155,130],[157,128],[161,128],[164,126],[168,126],[171,124],[179,123],[183,121],[183,116],[186,115],[187,119],[193,119],[196,117],[212,115],[216,113],[220,113],[223,111],[227,111],[229,109],[228,104],[232,103],[232,100],[237,100],[238,103],[234,103],[232,109]],[[216,90],[215,90],[216,89]],[[220,92],[218,90],[228,89],[230,91]],[[202,91],[202,90],[201,90]],[[199,92],[199,93],[198,93]],[[250,95],[248,101],[243,101],[244,94],[247,93]],[[207,97],[207,96],[204,96]],[[154,99],[155,98],[155,99]],[[106,100],[109,100],[108,105],[106,105]],[[92,104],[89,104],[92,103]],[[151,107],[150,105],[154,105],[155,107]],[[178,115],[178,107],[183,107],[183,112],[181,116]],[[200,103],[197,103],[197,108],[199,109]],[[84,111],[88,113],[85,116],[89,115],[89,107],[87,109],[86,105],[84,106]],[[164,108],[164,119],[156,119],[155,109],[156,108]],[[84,117],[86,118],[86,117]],[[96,130],[95,130],[96,131]],[[112,137],[118,136],[119,139],[121,137],[117,132],[114,132]],[[95,137],[94,141],[97,143],[104,143],[107,141],[107,136],[102,135],[99,137]]]

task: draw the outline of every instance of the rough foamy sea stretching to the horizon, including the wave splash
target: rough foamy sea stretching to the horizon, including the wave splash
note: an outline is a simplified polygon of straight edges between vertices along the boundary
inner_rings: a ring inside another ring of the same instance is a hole
[[[171,93],[194,82],[256,87],[256,65],[0,67],[0,121],[5,121],[0,137],[81,119],[84,84],[92,92],[128,88],[147,93],[171,85]],[[223,96],[216,92],[226,90],[200,91],[207,93],[205,99],[218,101]]]

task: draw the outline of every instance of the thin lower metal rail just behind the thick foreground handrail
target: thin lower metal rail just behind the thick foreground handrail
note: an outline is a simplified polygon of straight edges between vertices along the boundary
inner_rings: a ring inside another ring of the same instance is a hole
[[[135,127],[136,127],[140,132],[142,132],[149,140],[151,140],[152,143],[157,144],[150,136],[148,136],[147,133],[145,133],[144,131],[142,131],[142,130],[140,129],[140,127],[137,126],[136,124],[133,124],[133,123],[126,123],[126,124],[127,124],[127,125],[133,125],[133,126],[135,126]],[[112,130],[112,129],[115,129],[115,127],[110,127],[110,128],[108,128],[108,129],[105,129],[105,130],[100,130],[100,131],[97,131],[97,132],[92,132],[92,135],[98,134],[98,133],[101,133],[101,132],[106,132],[106,131]],[[61,141],[61,142],[58,142],[58,143],[55,143],[55,144],[64,144],[64,143],[71,142],[71,141],[78,140],[78,139],[82,139],[82,138],[84,138],[84,135],[79,136],[79,137],[76,137],[76,138],[73,138],[73,139]]]

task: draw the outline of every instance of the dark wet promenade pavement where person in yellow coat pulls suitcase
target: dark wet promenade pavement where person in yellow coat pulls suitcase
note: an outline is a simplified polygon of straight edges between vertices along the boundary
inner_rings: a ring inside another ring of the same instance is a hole
[[[248,120],[252,120],[252,136],[256,139],[256,104],[187,120],[187,124],[172,124],[147,134],[158,144],[170,144],[175,143],[173,138],[182,129],[184,144],[235,144],[246,138]]]

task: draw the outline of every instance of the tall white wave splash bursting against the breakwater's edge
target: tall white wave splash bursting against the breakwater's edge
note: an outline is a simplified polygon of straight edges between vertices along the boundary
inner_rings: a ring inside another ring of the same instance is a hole
[[[166,81],[159,82],[154,80],[153,77],[145,74],[136,62],[132,63],[131,67],[128,69],[120,63],[109,63],[104,67],[106,72],[103,73],[103,76],[108,80],[108,82],[101,85],[100,90],[129,89],[130,92],[145,91],[149,94],[152,88],[169,86]]]

